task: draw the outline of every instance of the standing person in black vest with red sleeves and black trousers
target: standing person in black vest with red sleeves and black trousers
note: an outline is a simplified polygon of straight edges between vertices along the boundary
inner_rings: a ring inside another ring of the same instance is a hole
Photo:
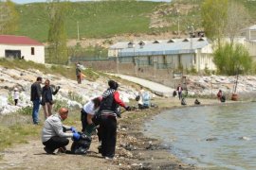
[[[117,109],[119,106],[131,110],[119,99],[117,91],[119,84],[114,80],[108,81],[109,88],[102,94],[101,113],[101,155],[105,159],[113,159],[117,143]]]

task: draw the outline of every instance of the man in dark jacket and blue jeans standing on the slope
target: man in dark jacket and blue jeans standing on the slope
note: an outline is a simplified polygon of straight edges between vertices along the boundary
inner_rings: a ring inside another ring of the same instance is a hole
[[[39,111],[41,95],[42,95],[42,88],[40,85],[41,83],[42,83],[42,77],[38,76],[36,78],[36,82],[34,82],[31,85],[30,100],[33,102],[32,118],[33,118],[34,125],[38,125],[39,123],[38,111]]]

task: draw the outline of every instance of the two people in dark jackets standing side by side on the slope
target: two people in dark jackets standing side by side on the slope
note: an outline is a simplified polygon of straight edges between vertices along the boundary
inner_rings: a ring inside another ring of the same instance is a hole
[[[46,79],[45,86],[42,88],[41,84],[43,78],[38,76],[36,81],[31,85],[30,100],[33,102],[32,119],[35,125],[39,124],[39,109],[40,105],[43,106],[45,118],[52,114],[52,105],[54,104],[52,95],[59,92],[60,86],[56,87],[55,90],[50,86],[50,80]]]

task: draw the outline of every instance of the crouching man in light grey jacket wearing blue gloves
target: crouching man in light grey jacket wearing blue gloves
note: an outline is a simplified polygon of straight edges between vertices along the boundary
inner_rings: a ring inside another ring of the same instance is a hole
[[[49,116],[42,130],[42,143],[47,154],[59,148],[58,152],[65,152],[65,146],[69,143],[67,138],[73,138],[74,141],[80,139],[80,134],[75,127],[67,127],[63,125],[63,121],[67,118],[68,110],[61,108],[58,113]],[[65,132],[71,130],[72,133]]]

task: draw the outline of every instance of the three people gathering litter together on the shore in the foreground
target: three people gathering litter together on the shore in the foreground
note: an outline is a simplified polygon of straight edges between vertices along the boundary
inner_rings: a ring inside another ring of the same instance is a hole
[[[105,159],[113,159],[117,143],[117,118],[120,114],[120,107],[131,110],[129,106],[119,98],[119,84],[114,80],[108,81],[109,88],[89,100],[81,110],[82,133],[91,136],[92,132],[98,127],[98,136],[101,141],[101,155]],[[61,108],[57,114],[47,117],[43,131],[42,142],[45,145],[46,153],[53,153],[58,149],[59,152],[66,150],[67,138],[78,141],[81,132],[75,127],[67,127],[62,124],[66,119],[68,110]],[[71,132],[66,132],[66,131]]]

